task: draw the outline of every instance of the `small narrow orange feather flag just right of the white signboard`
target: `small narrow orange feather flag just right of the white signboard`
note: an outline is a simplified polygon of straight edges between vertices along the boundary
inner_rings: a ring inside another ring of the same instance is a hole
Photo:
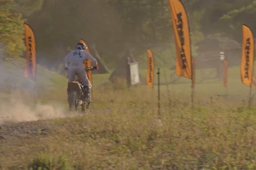
[[[147,49],[147,78],[146,85],[154,88],[155,61],[150,49]]]

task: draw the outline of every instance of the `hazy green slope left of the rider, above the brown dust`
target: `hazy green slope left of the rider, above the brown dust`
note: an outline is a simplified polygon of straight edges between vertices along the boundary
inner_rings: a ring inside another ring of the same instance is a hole
[[[38,65],[37,82],[34,82],[24,77],[25,65],[26,60],[23,58],[1,63],[0,90],[2,93],[21,92],[23,95],[33,96],[37,87],[38,95],[43,97],[52,92],[61,94],[61,91],[66,91],[67,78],[64,76]],[[30,98],[27,99],[30,100]]]

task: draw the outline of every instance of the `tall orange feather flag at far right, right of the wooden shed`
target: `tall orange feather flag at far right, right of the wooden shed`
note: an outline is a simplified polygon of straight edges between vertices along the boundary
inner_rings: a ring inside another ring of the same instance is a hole
[[[252,86],[254,64],[254,36],[252,30],[243,25],[243,52],[241,61],[241,79],[247,86]]]

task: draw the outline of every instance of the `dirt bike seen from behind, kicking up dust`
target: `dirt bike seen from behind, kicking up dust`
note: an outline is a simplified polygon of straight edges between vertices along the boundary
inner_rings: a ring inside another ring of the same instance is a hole
[[[98,66],[85,68],[86,72],[97,70]],[[68,70],[68,68],[67,68]],[[72,81],[69,83],[69,93],[68,93],[68,103],[69,103],[69,109],[70,111],[77,112],[79,109],[79,106],[82,106],[82,111],[85,111],[85,105],[86,109],[89,111],[90,109],[90,103],[91,103],[91,82],[89,81],[89,94],[88,98],[85,98],[85,90],[83,88],[83,82],[80,79],[77,79],[75,81]]]

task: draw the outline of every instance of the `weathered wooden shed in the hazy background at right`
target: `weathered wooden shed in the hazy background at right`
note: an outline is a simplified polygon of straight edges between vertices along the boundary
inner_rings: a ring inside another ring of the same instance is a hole
[[[198,46],[196,69],[201,69],[201,80],[222,79],[224,59],[228,67],[241,65],[242,44],[229,37],[206,37],[195,45]]]

